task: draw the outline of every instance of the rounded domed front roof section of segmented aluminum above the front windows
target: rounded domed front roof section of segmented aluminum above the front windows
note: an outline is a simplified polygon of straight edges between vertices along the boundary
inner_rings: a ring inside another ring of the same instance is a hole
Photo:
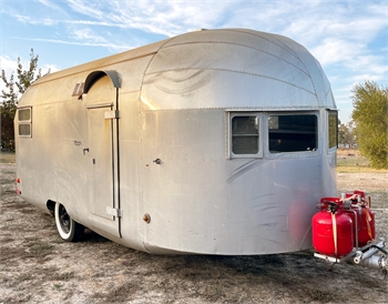
[[[245,29],[201,30],[166,40],[141,91],[143,105],[153,110],[336,109],[320,64],[303,45]]]

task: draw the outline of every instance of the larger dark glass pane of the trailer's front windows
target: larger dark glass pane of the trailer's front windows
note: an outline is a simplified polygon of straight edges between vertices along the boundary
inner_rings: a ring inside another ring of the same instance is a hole
[[[269,115],[269,152],[300,152],[317,149],[317,116],[313,114]]]

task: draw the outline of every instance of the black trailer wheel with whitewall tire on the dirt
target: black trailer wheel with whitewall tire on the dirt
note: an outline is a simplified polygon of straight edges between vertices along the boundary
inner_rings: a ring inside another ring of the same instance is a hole
[[[57,229],[62,240],[76,242],[82,237],[85,227],[70,217],[64,205],[57,202],[54,215]]]

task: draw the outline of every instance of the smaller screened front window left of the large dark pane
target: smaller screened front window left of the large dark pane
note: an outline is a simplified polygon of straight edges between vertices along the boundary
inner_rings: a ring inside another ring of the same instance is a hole
[[[256,115],[232,119],[232,152],[234,154],[257,154],[258,118]]]

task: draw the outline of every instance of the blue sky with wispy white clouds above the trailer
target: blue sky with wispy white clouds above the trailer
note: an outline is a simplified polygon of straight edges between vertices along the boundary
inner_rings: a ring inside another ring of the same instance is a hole
[[[0,1],[8,77],[18,58],[28,67],[31,48],[42,72],[54,72],[197,29],[246,28],[307,48],[331,83],[343,123],[355,84],[388,84],[388,0]]]

